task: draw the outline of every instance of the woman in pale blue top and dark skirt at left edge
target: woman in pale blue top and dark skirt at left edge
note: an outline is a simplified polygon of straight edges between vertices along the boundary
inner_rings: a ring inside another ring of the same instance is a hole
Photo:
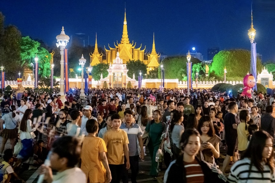
[[[17,124],[21,121],[21,117],[16,114],[15,110],[14,105],[9,106],[9,113],[5,114],[2,116],[2,119],[0,119],[0,136],[3,137],[0,147],[0,154],[2,154],[8,139],[11,149],[14,149],[14,142],[18,137]],[[5,129],[3,129],[3,123],[5,123]]]

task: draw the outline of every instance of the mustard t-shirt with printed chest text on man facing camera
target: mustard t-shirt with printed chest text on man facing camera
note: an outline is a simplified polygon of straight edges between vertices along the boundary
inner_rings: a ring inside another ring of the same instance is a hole
[[[108,130],[103,136],[107,146],[108,163],[112,165],[124,164],[123,145],[129,144],[127,133],[121,129],[119,131]]]

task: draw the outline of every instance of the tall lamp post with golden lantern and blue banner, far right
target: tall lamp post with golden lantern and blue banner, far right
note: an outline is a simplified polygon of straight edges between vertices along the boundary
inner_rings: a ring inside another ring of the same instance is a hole
[[[250,62],[250,73],[255,77],[255,80],[257,81],[257,51],[256,51],[256,43],[254,42],[256,35],[256,30],[253,28],[253,16],[252,16],[252,9],[251,9],[251,26],[250,29],[248,30],[248,38],[251,43],[251,62]],[[257,85],[252,88],[252,90],[257,91]]]

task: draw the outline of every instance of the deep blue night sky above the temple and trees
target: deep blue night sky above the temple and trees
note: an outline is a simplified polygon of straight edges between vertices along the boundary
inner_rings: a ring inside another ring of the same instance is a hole
[[[15,3],[16,2],[16,3]],[[5,24],[19,28],[23,36],[42,39],[48,45],[64,26],[71,37],[89,35],[90,45],[108,48],[120,41],[126,4],[130,42],[151,52],[153,32],[156,51],[168,56],[184,55],[192,47],[207,59],[207,48],[250,50],[251,0],[79,0],[0,1]],[[256,0],[252,4],[257,52],[263,61],[275,60],[275,2]]]

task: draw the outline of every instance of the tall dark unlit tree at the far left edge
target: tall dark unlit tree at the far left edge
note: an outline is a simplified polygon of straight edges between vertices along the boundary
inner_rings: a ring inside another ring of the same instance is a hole
[[[5,27],[4,20],[0,12],[0,66],[4,66],[6,80],[14,80],[20,70],[21,33],[13,25]]]

